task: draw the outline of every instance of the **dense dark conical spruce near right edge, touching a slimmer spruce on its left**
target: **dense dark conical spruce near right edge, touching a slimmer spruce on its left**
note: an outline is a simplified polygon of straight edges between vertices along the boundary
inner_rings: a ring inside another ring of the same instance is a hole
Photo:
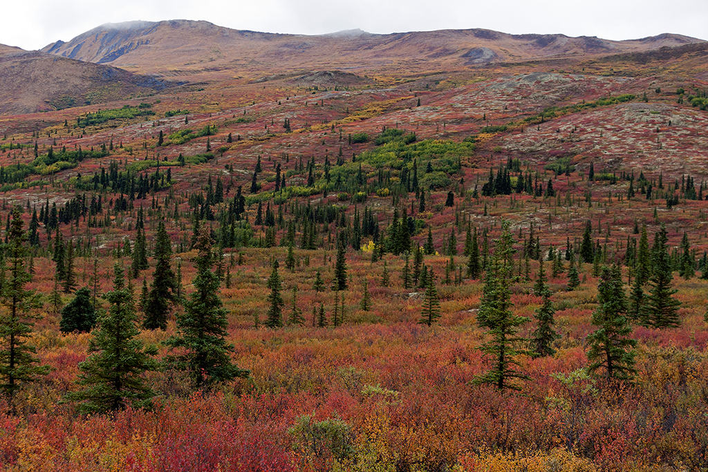
[[[673,273],[667,242],[666,227],[661,224],[661,229],[654,234],[649,277],[651,289],[645,297],[644,313],[641,316],[646,325],[653,328],[677,328],[680,325],[678,307],[681,302],[672,297],[678,291],[671,288]]]

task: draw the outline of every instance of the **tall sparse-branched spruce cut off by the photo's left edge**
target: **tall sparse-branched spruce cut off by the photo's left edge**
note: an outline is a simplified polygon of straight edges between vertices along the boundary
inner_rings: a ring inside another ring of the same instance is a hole
[[[49,372],[48,367],[35,365],[39,359],[35,356],[35,347],[27,341],[32,336],[33,321],[38,318],[30,310],[38,306],[38,300],[34,290],[25,289],[32,275],[25,270],[27,234],[22,226],[20,211],[14,209],[7,234],[8,277],[0,291],[0,302],[6,307],[0,311],[0,389],[8,397],[11,408],[21,384]]]

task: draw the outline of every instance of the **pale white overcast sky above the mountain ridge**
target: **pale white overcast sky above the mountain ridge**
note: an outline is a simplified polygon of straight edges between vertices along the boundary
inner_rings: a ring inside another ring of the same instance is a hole
[[[35,50],[103,23],[205,20],[266,33],[316,35],[486,28],[609,40],[678,33],[708,40],[706,0],[20,0],[2,8],[0,44]]]

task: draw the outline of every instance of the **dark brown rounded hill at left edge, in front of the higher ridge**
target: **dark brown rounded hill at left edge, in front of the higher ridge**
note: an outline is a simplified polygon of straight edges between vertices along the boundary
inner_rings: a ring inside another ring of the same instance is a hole
[[[103,103],[170,85],[115,67],[0,45],[0,114]]]

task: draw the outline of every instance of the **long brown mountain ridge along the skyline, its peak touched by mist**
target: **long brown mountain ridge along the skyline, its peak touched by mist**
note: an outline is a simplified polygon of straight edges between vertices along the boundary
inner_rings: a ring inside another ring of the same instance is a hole
[[[375,35],[281,35],[222,28],[205,21],[135,21],[102,25],[42,51],[164,76],[215,71],[261,74],[358,69],[399,74],[491,62],[643,52],[695,42],[681,35],[629,41],[565,35],[508,35],[491,30],[438,30]],[[194,79],[201,79],[199,78]]]

